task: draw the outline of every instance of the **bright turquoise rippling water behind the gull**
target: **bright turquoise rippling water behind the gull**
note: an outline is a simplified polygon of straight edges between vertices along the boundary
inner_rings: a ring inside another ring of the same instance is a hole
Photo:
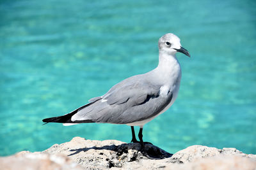
[[[127,125],[42,126],[42,119],[156,67],[167,32],[191,58],[178,54],[179,97],[145,125],[145,141],[171,153],[190,145],[256,153],[255,9],[255,1],[231,0],[1,1],[0,155],[75,136],[131,141]]]

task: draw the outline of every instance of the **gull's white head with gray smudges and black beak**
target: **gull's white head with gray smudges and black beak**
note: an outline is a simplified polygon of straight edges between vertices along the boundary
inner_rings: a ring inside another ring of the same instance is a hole
[[[179,37],[175,34],[168,33],[159,38],[158,41],[159,52],[167,53],[168,55],[175,55],[177,52],[184,53],[190,57],[188,50],[180,45]]]

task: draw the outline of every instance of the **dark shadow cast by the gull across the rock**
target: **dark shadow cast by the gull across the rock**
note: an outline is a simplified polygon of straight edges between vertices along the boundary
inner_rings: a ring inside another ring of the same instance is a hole
[[[166,159],[172,157],[172,153],[168,153],[163,149],[152,145],[151,143],[145,143],[145,151],[141,150],[140,143],[123,143],[121,145],[105,145],[105,146],[93,146],[90,148],[79,148],[70,150],[68,156],[76,155],[80,152],[87,152],[88,150],[111,150],[116,152],[118,157],[131,157],[132,160],[139,160],[142,156],[147,157],[148,159]],[[103,152],[99,153],[103,155]]]

